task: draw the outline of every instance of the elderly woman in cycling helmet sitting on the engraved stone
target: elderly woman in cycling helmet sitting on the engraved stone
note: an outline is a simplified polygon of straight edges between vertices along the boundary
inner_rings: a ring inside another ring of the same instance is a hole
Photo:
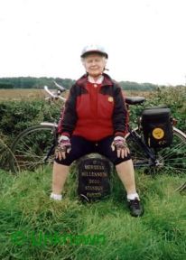
[[[70,88],[61,112],[51,199],[61,200],[73,161],[88,153],[100,153],[116,165],[130,213],[139,217],[144,209],[135,190],[134,166],[125,139],[126,104],[121,88],[104,73],[107,58],[107,52],[98,45],[86,46],[81,53],[86,74]]]

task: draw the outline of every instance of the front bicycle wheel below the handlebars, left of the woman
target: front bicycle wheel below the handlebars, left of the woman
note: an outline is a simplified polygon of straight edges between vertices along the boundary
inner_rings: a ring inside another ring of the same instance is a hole
[[[23,170],[34,171],[44,164],[53,162],[54,145],[56,142],[56,125],[34,125],[25,129],[12,144],[9,164],[12,172]],[[45,162],[48,153],[49,158]]]

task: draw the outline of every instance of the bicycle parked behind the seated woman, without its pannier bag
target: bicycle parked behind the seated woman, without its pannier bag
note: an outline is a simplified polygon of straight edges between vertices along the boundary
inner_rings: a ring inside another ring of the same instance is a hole
[[[60,93],[53,95],[45,87],[45,90],[52,98],[64,98],[60,94],[65,88],[60,88]],[[48,98],[49,99],[49,98]],[[126,104],[130,106],[142,105],[144,97],[126,97]],[[34,171],[44,164],[52,164],[54,158],[54,148],[57,144],[56,122],[42,122],[39,125],[33,125],[25,129],[18,135],[11,146],[12,153],[9,160],[10,168],[13,172],[22,170]],[[144,134],[141,125],[132,128],[128,125],[128,134],[126,142],[132,155],[135,169],[143,169],[144,172],[186,172],[186,135],[175,126],[172,126],[173,141],[169,147],[161,149],[151,148],[144,142]]]

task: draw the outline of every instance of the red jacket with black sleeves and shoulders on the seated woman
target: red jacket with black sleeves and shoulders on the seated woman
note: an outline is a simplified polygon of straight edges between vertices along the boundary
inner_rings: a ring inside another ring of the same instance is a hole
[[[98,141],[108,135],[125,136],[127,110],[121,88],[107,74],[101,84],[88,82],[84,75],[70,88],[61,112],[58,133],[79,135]]]

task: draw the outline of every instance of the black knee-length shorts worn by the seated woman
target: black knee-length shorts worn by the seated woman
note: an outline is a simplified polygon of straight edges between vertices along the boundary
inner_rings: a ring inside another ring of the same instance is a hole
[[[81,136],[72,135],[70,139],[70,153],[66,153],[66,159],[55,159],[55,162],[63,165],[70,165],[75,160],[78,160],[81,156],[87,155],[88,153],[99,153],[107,157],[107,159],[110,160],[114,165],[130,160],[130,154],[127,154],[127,156],[124,158],[118,158],[116,156],[116,150],[112,151],[111,149],[113,139],[114,136],[108,136],[98,142],[92,142]]]

